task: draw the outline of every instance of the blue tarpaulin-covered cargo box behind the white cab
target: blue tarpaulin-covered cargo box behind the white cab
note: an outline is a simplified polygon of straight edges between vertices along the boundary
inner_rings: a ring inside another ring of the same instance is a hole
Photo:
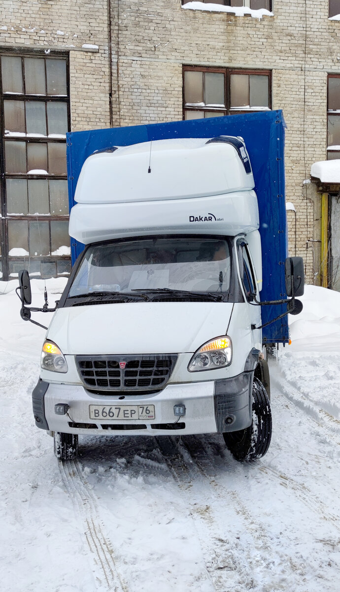
[[[75,205],[75,190],[80,170],[85,160],[95,150],[110,146],[129,146],[150,140],[241,136],[250,156],[260,212],[263,260],[261,301],[279,300],[286,296],[284,284],[284,260],[287,257],[287,221],[284,197],[285,127],[282,111],[263,111],[244,115],[67,133],[70,209]],[[75,262],[83,249],[82,243],[71,239],[72,263]],[[263,306],[263,324],[279,316],[285,308],[285,305]],[[269,343],[287,343],[289,341],[287,317],[264,327],[263,340]]]

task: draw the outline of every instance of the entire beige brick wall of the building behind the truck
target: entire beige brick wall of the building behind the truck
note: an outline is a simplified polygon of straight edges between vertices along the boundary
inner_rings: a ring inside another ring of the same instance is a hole
[[[257,20],[183,9],[180,0],[2,0],[0,49],[70,52],[73,130],[108,127],[110,116],[114,126],[182,119],[183,64],[272,70],[273,108],[287,123],[287,201],[296,208],[290,252],[296,247],[308,281],[318,281],[320,198],[303,181],[326,158],[327,73],[340,73],[340,22],[328,20],[328,0],[306,0],[306,30],[305,0],[273,5],[273,17]]]

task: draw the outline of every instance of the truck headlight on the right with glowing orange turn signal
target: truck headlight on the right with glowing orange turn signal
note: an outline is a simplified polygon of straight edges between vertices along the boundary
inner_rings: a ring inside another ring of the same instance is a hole
[[[194,353],[187,369],[189,372],[202,372],[223,368],[231,363],[231,355],[231,339],[228,336],[216,337]]]

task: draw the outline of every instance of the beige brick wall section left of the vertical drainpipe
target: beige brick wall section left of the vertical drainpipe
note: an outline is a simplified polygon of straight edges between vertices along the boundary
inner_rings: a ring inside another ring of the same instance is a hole
[[[0,50],[6,47],[70,52],[72,130],[109,127],[106,0],[2,0]]]

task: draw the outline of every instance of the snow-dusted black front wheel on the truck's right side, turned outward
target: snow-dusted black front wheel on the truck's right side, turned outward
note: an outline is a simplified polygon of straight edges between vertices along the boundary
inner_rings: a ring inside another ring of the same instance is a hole
[[[263,384],[254,378],[252,382],[252,423],[238,432],[223,435],[226,448],[237,461],[254,461],[267,452],[271,439],[271,411]]]

